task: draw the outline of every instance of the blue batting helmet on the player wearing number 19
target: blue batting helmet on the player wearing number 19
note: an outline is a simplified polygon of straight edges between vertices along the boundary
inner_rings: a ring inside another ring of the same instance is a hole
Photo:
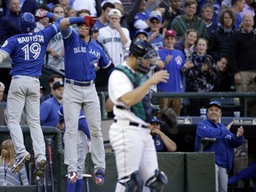
[[[20,20],[20,28],[22,32],[28,33],[36,28],[36,20],[30,12],[24,12]]]

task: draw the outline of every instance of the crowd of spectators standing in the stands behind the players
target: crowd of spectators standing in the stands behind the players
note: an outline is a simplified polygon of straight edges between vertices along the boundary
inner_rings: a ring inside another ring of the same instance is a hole
[[[127,4],[132,8],[124,12]],[[94,15],[98,20],[91,30],[92,38],[104,48],[115,66],[129,55],[129,46],[139,30],[159,52],[155,71],[177,66],[169,71],[175,85],[170,81],[164,85],[167,89],[163,90],[163,85],[159,85],[158,89],[152,87],[152,92],[248,92],[256,76],[254,7],[251,0],[199,3],[196,0],[90,0],[86,3],[82,0],[1,0],[0,43],[20,34],[21,15],[23,12],[34,13],[36,8],[65,17]],[[47,28],[52,22],[48,18],[38,20],[36,31]],[[72,28],[77,31],[78,27],[74,24]],[[170,33],[175,36],[168,40]],[[163,53],[168,41],[173,46]],[[176,50],[180,51],[178,55],[174,53]],[[45,66],[65,72],[64,54],[59,33],[48,45]],[[108,75],[97,63],[95,65],[97,91],[108,92]],[[205,108],[208,101],[190,100],[190,103],[196,103],[196,108]],[[183,101],[161,106],[176,108],[180,115],[180,102]],[[189,113],[199,115],[197,109]]]

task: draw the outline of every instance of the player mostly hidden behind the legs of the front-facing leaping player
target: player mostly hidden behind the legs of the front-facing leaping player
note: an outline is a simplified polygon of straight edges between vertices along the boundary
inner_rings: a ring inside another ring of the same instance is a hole
[[[63,106],[59,110],[60,117],[63,118]],[[77,136],[77,180],[76,182],[67,182],[67,192],[82,192],[83,189],[83,173],[85,168],[85,158],[90,149],[91,135],[88,124],[81,109],[78,121],[78,136]],[[65,147],[64,147],[65,148]],[[68,180],[68,179],[67,179]]]

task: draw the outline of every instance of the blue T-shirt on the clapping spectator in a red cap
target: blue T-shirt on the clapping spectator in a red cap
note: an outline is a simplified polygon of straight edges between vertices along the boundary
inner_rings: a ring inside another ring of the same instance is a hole
[[[157,84],[157,90],[162,92],[182,92],[182,78],[181,68],[185,64],[185,57],[180,50],[159,50],[159,56],[161,60],[165,61],[165,57],[172,55],[170,60],[164,67],[165,70],[170,74],[169,79],[166,83],[160,82]]]

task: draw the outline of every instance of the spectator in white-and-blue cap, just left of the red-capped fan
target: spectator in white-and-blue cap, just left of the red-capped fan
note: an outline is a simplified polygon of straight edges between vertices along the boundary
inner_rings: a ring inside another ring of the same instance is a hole
[[[149,27],[148,42],[152,44],[156,51],[164,48],[163,35],[160,33],[162,28],[162,14],[158,11],[150,12],[149,15]]]

